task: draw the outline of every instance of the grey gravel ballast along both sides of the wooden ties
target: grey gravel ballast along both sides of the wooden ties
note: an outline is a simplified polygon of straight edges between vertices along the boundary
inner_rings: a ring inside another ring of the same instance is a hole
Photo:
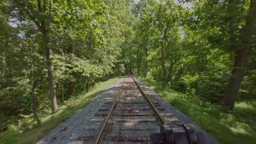
[[[92,143],[93,141],[84,141],[80,138],[83,136],[95,136],[97,134],[98,129],[95,130],[88,128],[95,127],[95,125],[101,125],[102,122],[95,123],[91,120],[95,117],[95,113],[97,113],[98,110],[102,108],[102,105],[104,105],[107,99],[113,99],[113,95],[118,92],[118,89],[120,88],[123,80],[124,78],[120,79],[114,85],[102,91],[94,98],[94,100],[91,101],[90,104],[75,112],[72,117],[61,123],[58,127],[51,131],[49,135],[44,136],[43,139],[39,140],[37,143]],[[138,79],[136,79],[136,81],[138,85],[142,87],[142,90],[147,89],[147,91],[150,91],[150,94],[157,95],[158,103],[162,106],[162,108],[164,108],[167,112],[173,113],[174,116],[179,119],[180,123],[193,125],[195,130],[201,131],[201,133],[205,136],[207,143],[219,143],[213,140],[205,130],[202,130],[194,122],[190,121],[188,116],[162,99],[159,94],[153,92],[151,89],[149,89],[148,86],[146,86]]]

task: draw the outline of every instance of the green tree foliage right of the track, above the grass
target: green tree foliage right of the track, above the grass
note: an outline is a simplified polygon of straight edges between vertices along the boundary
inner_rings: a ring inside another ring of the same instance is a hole
[[[138,75],[150,74],[153,80],[161,82],[164,72],[160,48],[167,29],[163,56],[167,84],[186,93],[188,99],[222,104],[234,64],[231,51],[247,47],[241,44],[246,38],[249,2],[186,1],[185,4],[192,7],[173,1],[140,1],[133,5],[138,32],[134,42],[137,51],[130,64]],[[252,88],[255,78],[249,70],[247,75],[250,76],[245,77],[239,98],[255,92]]]

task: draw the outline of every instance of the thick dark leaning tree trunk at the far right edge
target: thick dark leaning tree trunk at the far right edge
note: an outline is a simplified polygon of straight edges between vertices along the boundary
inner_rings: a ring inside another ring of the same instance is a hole
[[[232,76],[229,79],[228,88],[226,89],[224,97],[224,105],[228,106],[230,110],[233,110],[238,90],[241,87],[241,82],[246,71],[247,64],[247,53],[253,47],[255,42],[255,37],[253,36],[256,33],[254,27],[256,17],[256,0],[251,0],[249,7],[249,15],[246,20],[246,29],[245,29],[245,46],[243,49],[237,49],[234,51],[235,62],[232,70]]]

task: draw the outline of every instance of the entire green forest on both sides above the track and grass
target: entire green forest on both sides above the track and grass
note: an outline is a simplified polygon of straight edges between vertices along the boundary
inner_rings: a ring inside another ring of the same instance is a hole
[[[31,129],[95,83],[131,74],[226,112],[255,106],[255,0],[5,0],[0,9],[0,132]]]

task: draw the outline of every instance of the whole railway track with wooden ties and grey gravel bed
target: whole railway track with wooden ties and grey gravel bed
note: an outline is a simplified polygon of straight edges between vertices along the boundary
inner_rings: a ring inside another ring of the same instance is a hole
[[[38,143],[218,144],[176,107],[131,76],[102,91]]]

